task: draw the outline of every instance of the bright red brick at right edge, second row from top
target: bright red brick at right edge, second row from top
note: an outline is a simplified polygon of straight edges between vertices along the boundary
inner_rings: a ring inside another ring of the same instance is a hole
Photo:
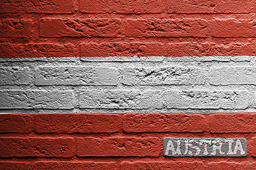
[[[213,37],[256,37],[255,21],[235,18],[215,18],[210,23]]]

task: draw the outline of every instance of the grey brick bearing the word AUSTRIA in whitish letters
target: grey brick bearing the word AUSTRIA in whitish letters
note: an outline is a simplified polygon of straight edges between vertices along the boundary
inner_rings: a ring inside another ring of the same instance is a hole
[[[246,157],[246,139],[164,137],[169,157]]]

